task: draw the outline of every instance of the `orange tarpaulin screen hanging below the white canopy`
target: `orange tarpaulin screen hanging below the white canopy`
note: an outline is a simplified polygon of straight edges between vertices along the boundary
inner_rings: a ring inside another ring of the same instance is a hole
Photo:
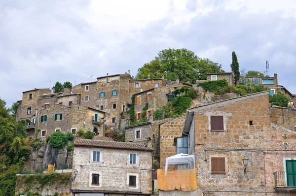
[[[197,189],[197,168],[165,171],[157,169],[158,189],[163,191],[193,191]]]

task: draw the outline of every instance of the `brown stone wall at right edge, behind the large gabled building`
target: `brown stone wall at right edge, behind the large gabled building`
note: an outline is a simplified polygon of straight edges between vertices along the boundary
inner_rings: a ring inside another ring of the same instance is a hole
[[[270,112],[271,123],[296,131],[296,109],[273,106]]]

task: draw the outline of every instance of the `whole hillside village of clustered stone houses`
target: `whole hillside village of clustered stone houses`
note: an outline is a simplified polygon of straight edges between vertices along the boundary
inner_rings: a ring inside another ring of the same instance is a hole
[[[235,85],[232,72],[209,73],[191,84],[127,71],[60,93],[25,91],[16,120],[36,145],[15,193],[292,196],[296,95],[277,78]],[[290,100],[276,106],[274,95]]]

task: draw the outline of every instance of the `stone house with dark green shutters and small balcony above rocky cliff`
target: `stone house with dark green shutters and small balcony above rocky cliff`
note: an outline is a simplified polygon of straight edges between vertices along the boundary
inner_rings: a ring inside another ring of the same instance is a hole
[[[104,135],[105,112],[72,103],[62,105],[53,103],[41,109],[37,129],[38,137],[46,137],[55,131],[76,134],[78,130],[94,131],[95,135]]]

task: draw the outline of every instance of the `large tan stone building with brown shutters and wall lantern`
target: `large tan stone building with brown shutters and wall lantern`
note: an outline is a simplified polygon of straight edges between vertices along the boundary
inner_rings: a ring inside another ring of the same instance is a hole
[[[175,142],[167,139],[176,153],[194,155],[198,190],[204,196],[295,194],[296,132],[270,124],[268,96],[261,92],[190,108],[182,131],[173,135]],[[160,133],[164,138],[165,131]],[[170,156],[164,142],[161,168]],[[246,167],[243,159],[248,160]]]

